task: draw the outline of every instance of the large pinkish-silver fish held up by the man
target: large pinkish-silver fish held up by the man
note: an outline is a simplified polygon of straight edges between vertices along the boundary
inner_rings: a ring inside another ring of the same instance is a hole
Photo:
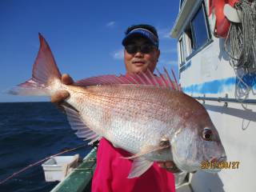
[[[50,46],[41,34],[39,39],[32,78],[10,92],[51,95],[68,90],[65,102],[72,107],[64,107],[70,126],[80,138],[94,142],[104,137],[134,154],[129,178],[143,174],[154,161],[174,161],[186,172],[200,170],[202,162],[226,161],[209,114],[167,72],[159,77],[150,72],[105,75],[64,85]]]

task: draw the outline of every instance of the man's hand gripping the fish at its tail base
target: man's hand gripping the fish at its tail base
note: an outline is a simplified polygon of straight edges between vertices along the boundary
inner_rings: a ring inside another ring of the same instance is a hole
[[[69,74],[62,74],[62,83],[65,85],[71,85],[74,83],[74,81]],[[56,93],[51,95],[50,102],[58,104],[63,102],[68,97],[70,97],[70,93],[67,90],[58,90]]]

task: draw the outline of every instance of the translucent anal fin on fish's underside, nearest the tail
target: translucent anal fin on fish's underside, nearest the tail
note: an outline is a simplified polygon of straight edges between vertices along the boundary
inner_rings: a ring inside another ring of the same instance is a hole
[[[77,110],[63,104],[62,106],[66,111],[67,119],[70,122],[71,128],[73,130],[77,130],[75,134],[78,136],[78,138],[86,138],[85,140],[91,139],[91,141],[88,143],[89,145],[100,138],[100,136],[96,134],[94,130],[90,130],[90,128],[86,126]]]

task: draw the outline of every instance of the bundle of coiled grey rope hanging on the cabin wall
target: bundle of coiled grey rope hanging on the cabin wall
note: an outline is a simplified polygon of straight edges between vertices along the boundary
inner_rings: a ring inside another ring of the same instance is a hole
[[[230,30],[225,41],[225,50],[229,55],[230,66],[238,78],[235,98],[246,99],[253,88],[243,78],[256,72],[256,6],[255,0],[240,0],[235,4],[242,11],[242,22],[230,22]]]

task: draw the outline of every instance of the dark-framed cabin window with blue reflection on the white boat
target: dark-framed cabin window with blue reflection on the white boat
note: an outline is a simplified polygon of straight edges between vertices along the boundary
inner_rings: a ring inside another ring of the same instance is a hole
[[[198,50],[202,49],[207,42],[210,42],[209,26],[206,20],[205,6],[202,3],[199,10],[186,26],[182,34],[182,41],[179,41],[180,64],[186,62],[186,58],[191,58]],[[183,50],[182,50],[183,49]],[[181,53],[183,51],[183,53]],[[184,59],[182,59],[182,55]]]

